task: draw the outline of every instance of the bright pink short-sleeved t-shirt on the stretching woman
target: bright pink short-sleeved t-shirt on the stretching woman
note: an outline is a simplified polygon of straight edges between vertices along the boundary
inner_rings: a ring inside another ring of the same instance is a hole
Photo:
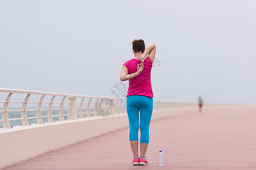
[[[141,63],[139,59],[133,58],[126,61],[123,65],[127,67],[128,74],[133,74],[137,72],[138,63]],[[154,97],[150,80],[151,69],[152,61],[149,58],[146,58],[142,73],[132,79],[129,79],[129,88],[126,97],[131,95]]]

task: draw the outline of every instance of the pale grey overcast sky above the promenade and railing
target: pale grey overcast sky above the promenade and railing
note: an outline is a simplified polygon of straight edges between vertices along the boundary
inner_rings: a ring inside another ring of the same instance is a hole
[[[114,96],[131,41],[154,99],[256,103],[256,1],[1,1],[0,87]]]

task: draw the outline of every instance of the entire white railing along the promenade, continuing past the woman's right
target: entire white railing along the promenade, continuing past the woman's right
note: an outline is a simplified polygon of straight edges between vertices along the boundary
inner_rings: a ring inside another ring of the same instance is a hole
[[[22,100],[18,100],[20,96],[13,97],[16,94],[23,95],[21,96],[23,97]],[[0,101],[0,104],[2,104],[2,111],[0,105],[0,112],[2,113],[2,117],[0,117],[1,128],[16,126],[16,124],[10,125],[14,121],[19,121],[21,122],[20,125],[27,126],[33,123],[43,124],[67,119],[74,120],[96,116],[108,117],[112,114],[126,112],[125,99],[120,100],[113,97],[57,94],[6,88],[0,88],[0,95],[5,97],[3,101]],[[10,104],[16,105],[10,107]],[[16,109],[18,104],[20,106]],[[29,108],[28,105],[30,104],[32,104],[32,107]],[[154,109],[190,105],[195,104],[154,101]],[[10,117],[11,112],[16,113],[15,117]]]

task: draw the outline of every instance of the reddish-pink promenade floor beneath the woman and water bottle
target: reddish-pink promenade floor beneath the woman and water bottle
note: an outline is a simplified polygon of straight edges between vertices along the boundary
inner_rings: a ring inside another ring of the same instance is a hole
[[[146,166],[131,165],[128,135],[128,128],[114,131],[5,169],[256,169],[255,108],[213,109],[152,121]],[[163,167],[158,166],[159,150]]]

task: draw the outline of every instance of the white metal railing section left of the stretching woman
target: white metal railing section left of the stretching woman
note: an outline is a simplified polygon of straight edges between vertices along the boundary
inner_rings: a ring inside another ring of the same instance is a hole
[[[109,108],[102,108],[102,101],[104,101],[105,103],[108,102],[110,104],[115,102],[114,104],[109,105],[109,107],[112,107],[114,111],[111,111],[113,114],[124,112],[125,109],[125,102],[122,102],[122,100],[114,99],[111,97],[57,94],[49,92],[14,90],[6,88],[0,88],[0,93],[2,96],[7,95],[5,101],[0,101],[0,104],[3,104],[2,111],[0,111],[2,112],[0,123],[2,122],[3,128],[10,128],[11,126],[9,122],[17,120],[21,121],[21,125],[30,125],[29,120],[36,120],[36,123],[43,124],[44,122],[54,122],[55,120],[64,121],[66,119],[71,120],[94,116],[104,117],[107,115],[104,115],[104,112],[102,112],[102,110],[106,111],[106,109]],[[24,100],[11,100],[14,94],[25,95]],[[38,98],[39,96],[39,100],[30,100],[32,95],[34,98]],[[46,97],[49,99],[48,101],[45,100]],[[59,100],[56,100],[56,98],[58,98]],[[10,108],[9,105],[12,103],[22,104],[21,109]],[[36,109],[28,109],[28,104],[36,104]],[[43,104],[47,104],[47,107],[42,108]],[[59,106],[53,107],[53,105],[56,104],[58,104]],[[66,107],[64,107],[64,105],[66,105]],[[105,104],[105,107],[107,106],[108,105]],[[116,107],[116,109],[114,109],[113,107]],[[43,111],[46,111],[47,114],[43,115]],[[54,114],[54,111],[56,111],[55,113],[57,114]],[[16,115],[15,118],[10,118],[10,112],[18,112],[19,115]],[[34,112],[35,115],[27,116],[28,112]]]

